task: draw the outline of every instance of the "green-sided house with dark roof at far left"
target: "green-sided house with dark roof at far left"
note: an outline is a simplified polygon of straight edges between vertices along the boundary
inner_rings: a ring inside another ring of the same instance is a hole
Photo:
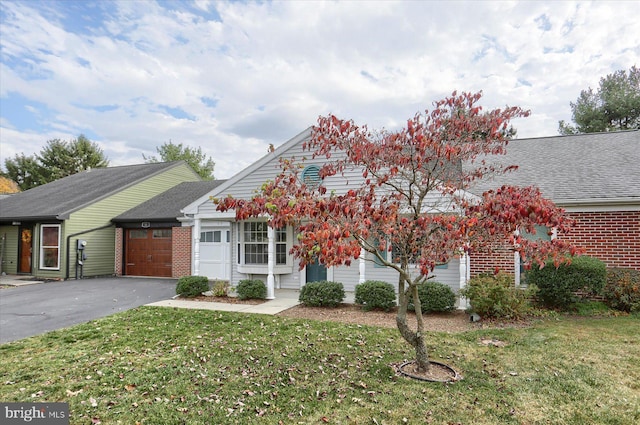
[[[0,199],[0,272],[42,279],[115,273],[112,219],[182,182],[184,161],[97,168]]]

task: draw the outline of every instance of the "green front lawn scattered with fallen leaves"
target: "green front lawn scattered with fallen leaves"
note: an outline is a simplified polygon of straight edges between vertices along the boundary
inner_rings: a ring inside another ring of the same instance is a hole
[[[66,401],[72,424],[640,422],[637,316],[429,341],[462,381],[396,376],[394,329],[141,307],[1,345],[0,400]]]

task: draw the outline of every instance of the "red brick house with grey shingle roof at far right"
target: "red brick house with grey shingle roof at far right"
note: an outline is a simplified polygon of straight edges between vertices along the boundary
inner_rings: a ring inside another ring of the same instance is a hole
[[[478,192],[503,184],[538,186],[546,198],[575,220],[566,238],[608,267],[640,270],[640,131],[517,139],[507,154],[492,158],[518,169]],[[550,237],[541,229],[536,237]],[[520,281],[520,258],[508,248],[472,253],[470,275],[513,272]]]

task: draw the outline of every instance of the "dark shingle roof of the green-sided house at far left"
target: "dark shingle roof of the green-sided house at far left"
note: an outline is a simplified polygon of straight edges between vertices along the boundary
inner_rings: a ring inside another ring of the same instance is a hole
[[[0,200],[0,221],[65,220],[87,205],[182,164],[157,162],[73,174]]]

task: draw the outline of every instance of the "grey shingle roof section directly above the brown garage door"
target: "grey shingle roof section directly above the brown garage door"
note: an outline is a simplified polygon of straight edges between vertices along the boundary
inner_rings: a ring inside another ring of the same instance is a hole
[[[176,220],[181,216],[180,210],[195,199],[209,193],[226,180],[208,180],[184,182],[154,196],[142,204],[125,211],[111,221],[114,223],[130,221],[166,221]]]

